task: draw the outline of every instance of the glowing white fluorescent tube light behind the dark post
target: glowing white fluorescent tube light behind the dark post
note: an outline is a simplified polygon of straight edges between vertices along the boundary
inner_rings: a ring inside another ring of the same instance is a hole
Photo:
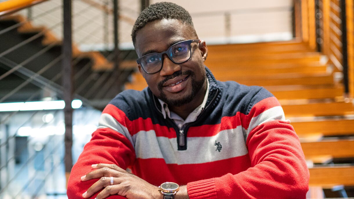
[[[73,108],[80,108],[82,101],[75,99],[72,101]],[[0,103],[0,112],[6,111],[22,111],[22,110],[56,110],[64,109],[65,102],[58,101],[39,101],[39,102],[13,102],[13,103]]]

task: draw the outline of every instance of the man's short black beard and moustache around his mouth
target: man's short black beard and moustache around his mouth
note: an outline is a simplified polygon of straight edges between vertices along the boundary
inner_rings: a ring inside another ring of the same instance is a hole
[[[181,76],[181,75],[189,75],[189,78],[191,78],[192,92],[190,92],[189,94],[187,94],[187,96],[184,96],[182,98],[177,98],[177,99],[176,98],[173,98],[173,99],[167,98],[165,93],[162,91],[162,87],[163,87],[164,83],[166,81],[168,81],[169,79],[173,79],[173,78],[175,78],[177,76]],[[202,78],[201,80],[196,80],[196,75],[192,70],[187,70],[187,71],[184,71],[183,73],[181,71],[177,71],[177,72],[173,73],[171,76],[168,76],[166,79],[162,80],[158,84],[158,89],[160,91],[160,95],[157,97],[159,99],[161,99],[162,101],[164,101],[169,106],[176,106],[176,107],[183,106],[184,104],[187,104],[193,100],[196,93],[198,93],[198,91],[203,87],[205,79],[206,79],[206,75],[204,75],[204,78]]]

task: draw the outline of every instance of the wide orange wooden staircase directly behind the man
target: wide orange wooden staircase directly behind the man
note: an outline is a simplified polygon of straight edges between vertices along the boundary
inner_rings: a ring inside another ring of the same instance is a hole
[[[342,80],[333,77],[326,56],[295,40],[208,50],[205,64],[217,80],[264,86],[279,99],[300,138],[310,186],[354,186],[353,99],[343,97]],[[145,86],[144,78],[134,73],[126,89]]]

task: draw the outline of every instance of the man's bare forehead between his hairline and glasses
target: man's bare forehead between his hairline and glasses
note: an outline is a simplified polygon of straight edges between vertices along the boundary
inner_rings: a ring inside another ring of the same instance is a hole
[[[192,27],[178,19],[161,19],[137,31],[135,50],[139,57],[148,51],[163,52],[177,41],[197,39]]]

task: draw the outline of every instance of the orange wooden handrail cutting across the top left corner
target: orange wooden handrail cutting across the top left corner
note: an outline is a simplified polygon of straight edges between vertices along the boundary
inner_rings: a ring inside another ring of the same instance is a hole
[[[0,3],[0,17],[17,12],[24,8],[40,4],[47,0],[7,0]]]

